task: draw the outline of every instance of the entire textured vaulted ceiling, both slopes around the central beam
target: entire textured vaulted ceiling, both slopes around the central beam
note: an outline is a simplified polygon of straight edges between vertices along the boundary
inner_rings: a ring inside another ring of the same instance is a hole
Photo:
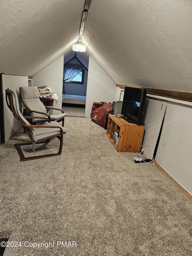
[[[74,52],[84,0],[5,0],[0,16],[0,72],[34,75]],[[82,36],[118,84],[192,92],[191,0],[92,0]]]

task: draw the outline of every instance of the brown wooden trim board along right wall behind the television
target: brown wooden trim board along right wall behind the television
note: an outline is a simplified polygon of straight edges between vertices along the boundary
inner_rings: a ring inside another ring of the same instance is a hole
[[[136,87],[136,88],[146,89],[148,94],[192,102],[192,93],[190,92],[168,91],[168,90],[161,90],[161,89],[146,88],[141,86],[121,85],[121,84],[116,84],[116,86],[120,87],[121,89],[125,89],[125,87]]]

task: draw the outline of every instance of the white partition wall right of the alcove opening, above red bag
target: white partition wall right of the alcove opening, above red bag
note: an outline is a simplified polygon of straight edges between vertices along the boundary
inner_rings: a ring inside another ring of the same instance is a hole
[[[116,83],[98,63],[89,56],[85,117],[90,117],[93,102],[113,102],[115,92]]]

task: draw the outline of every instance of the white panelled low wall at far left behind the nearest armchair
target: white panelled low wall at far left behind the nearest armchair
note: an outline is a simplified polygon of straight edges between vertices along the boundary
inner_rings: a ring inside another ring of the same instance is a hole
[[[28,77],[2,75],[3,86],[3,106],[4,106],[4,137],[5,142],[22,126],[21,123],[13,116],[13,113],[7,107],[5,90],[10,88],[17,92],[19,97],[19,87],[28,86]],[[22,113],[22,108],[20,105]]]

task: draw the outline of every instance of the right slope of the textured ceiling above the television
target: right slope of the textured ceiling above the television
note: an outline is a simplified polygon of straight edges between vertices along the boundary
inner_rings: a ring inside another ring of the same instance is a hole
[[[93,0],[84,37],[116,83],[192,92],[191,1]]]

